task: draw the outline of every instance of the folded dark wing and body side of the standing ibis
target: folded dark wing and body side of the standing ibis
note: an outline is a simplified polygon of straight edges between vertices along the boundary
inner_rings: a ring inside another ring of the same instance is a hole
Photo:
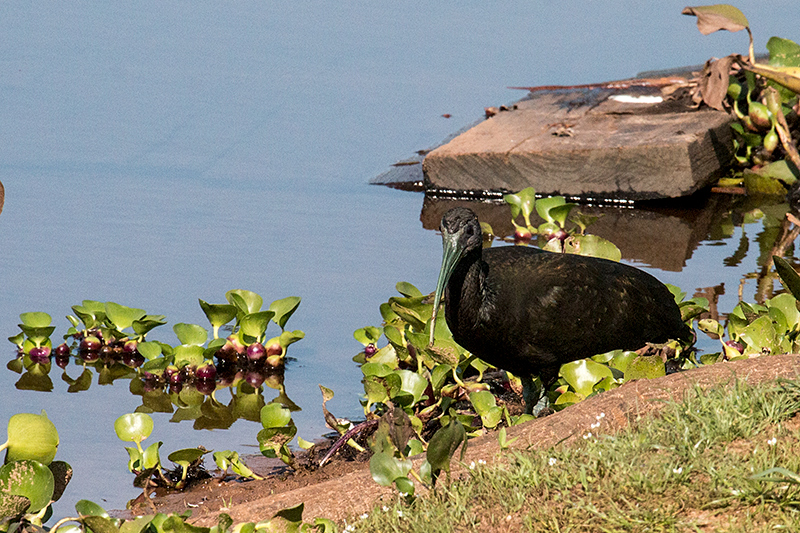
[[[526,247],[488,249],[483,259],[478,348],[512,372],[635,350],[688,329],[667,288],[633,267]]]

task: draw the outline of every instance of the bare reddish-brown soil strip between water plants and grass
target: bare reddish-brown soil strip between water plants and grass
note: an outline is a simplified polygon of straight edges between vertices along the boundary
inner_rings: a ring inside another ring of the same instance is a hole
[[[551,416],[508,428],[508,439],[519,437],[511,445],[517,450],[546,448],[559,442],[574,441],[589,431],[596,434],[598,429],[592,429],[592,425],[596,424],[600,413],[604,413],[600,431],[611,433],[642,416],[658,412],[663,400],[679,399],[695,386],[724,386],[735,377],[757,384],[798,376],[800,355],[779,355],[720,363],[658,379],[640,380]],[[325,517],[341,523],[344,519],[370,511],[382,498],[396,497],[392,489],[381,487],[372,480],[366,454],[355,455],[344,446],[342,450],[345,451],[337,452],[334,461],[317,468],[315,465],[326,446],[318,448],[299,460],[300,468],[294,473],[281,468],[279,465],[282,463],[248,457],[245,458],[248,466],[260,474],[272,472],[270,477],[246,482],[206,480],[181,493],[157,496],[152,505],[164,513],[191,509],[193,523],[211,526],[216,523],[220,512],[229,514],[234,522],[257,522],[272,518],[281,509],[304,503],[305,520]],[[343,453],[350,455],[342,457]],[[469,442],[465,463],[478,459],[493,462],[500,456],[497,435],[490,433]],[[456,472],[459,468],[463,465],[457,467]],[[132,512],[149,514],[153,507],[141,502]]]

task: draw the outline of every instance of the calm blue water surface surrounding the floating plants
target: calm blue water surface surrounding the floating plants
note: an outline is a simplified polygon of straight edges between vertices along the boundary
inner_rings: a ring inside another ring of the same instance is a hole
[[[329,407],[357,417],[352,332],[380,322],[397,281],[431,290],[440,240],[422,196],[369,186],[398,159],[523,96],[507,86],[580,84],[745,53],[744,33],[704,37],[684,2],[5,2],[0,17],[0,333],[41,310],[59,326],[83,299],[205,323],[197,299],[232,288],[298,295],[289,322],[294,419],[312,440]],[[797,39],[794,2],[748,0],[756,50]],[[776,13],[781,12],[780,16]],[[443,114],[451,118],[443,118]],[[753,232],[754,233],[754,232]],[[662,279],[692,291],[738,236],[702,246]],[[747,263],[747,261],[745,261]],[[659,275],[659,272],[656,271]],[[724,307],[721,305],[721,307]],[[13,355],[12,345],[0,353]],[[71,372],[77,375],[76,369]],[[0,425],[46,409],[77,499],[121,508],[138,490],[113,421],[126,386],[20,392],[0,372]],[[274,391],[266,391],[267,400]],[[257,425],[194,432],[156,417],[146,443],[255,452]]]

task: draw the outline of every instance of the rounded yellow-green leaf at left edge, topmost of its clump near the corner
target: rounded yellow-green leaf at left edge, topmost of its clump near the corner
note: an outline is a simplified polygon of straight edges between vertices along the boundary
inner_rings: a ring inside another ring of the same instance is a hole
[[[58,430],[42,414],[19,413],[8,420],[6,462],[31,459],[49,465],[58,450]]]

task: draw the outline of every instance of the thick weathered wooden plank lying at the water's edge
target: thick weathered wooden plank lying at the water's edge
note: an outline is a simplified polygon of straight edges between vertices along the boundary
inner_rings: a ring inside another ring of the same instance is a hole
[[[536,93],[431,151],[426,190],[648,200],[690,195],[729,163],[728,114],[609,99],[620,93]]]

